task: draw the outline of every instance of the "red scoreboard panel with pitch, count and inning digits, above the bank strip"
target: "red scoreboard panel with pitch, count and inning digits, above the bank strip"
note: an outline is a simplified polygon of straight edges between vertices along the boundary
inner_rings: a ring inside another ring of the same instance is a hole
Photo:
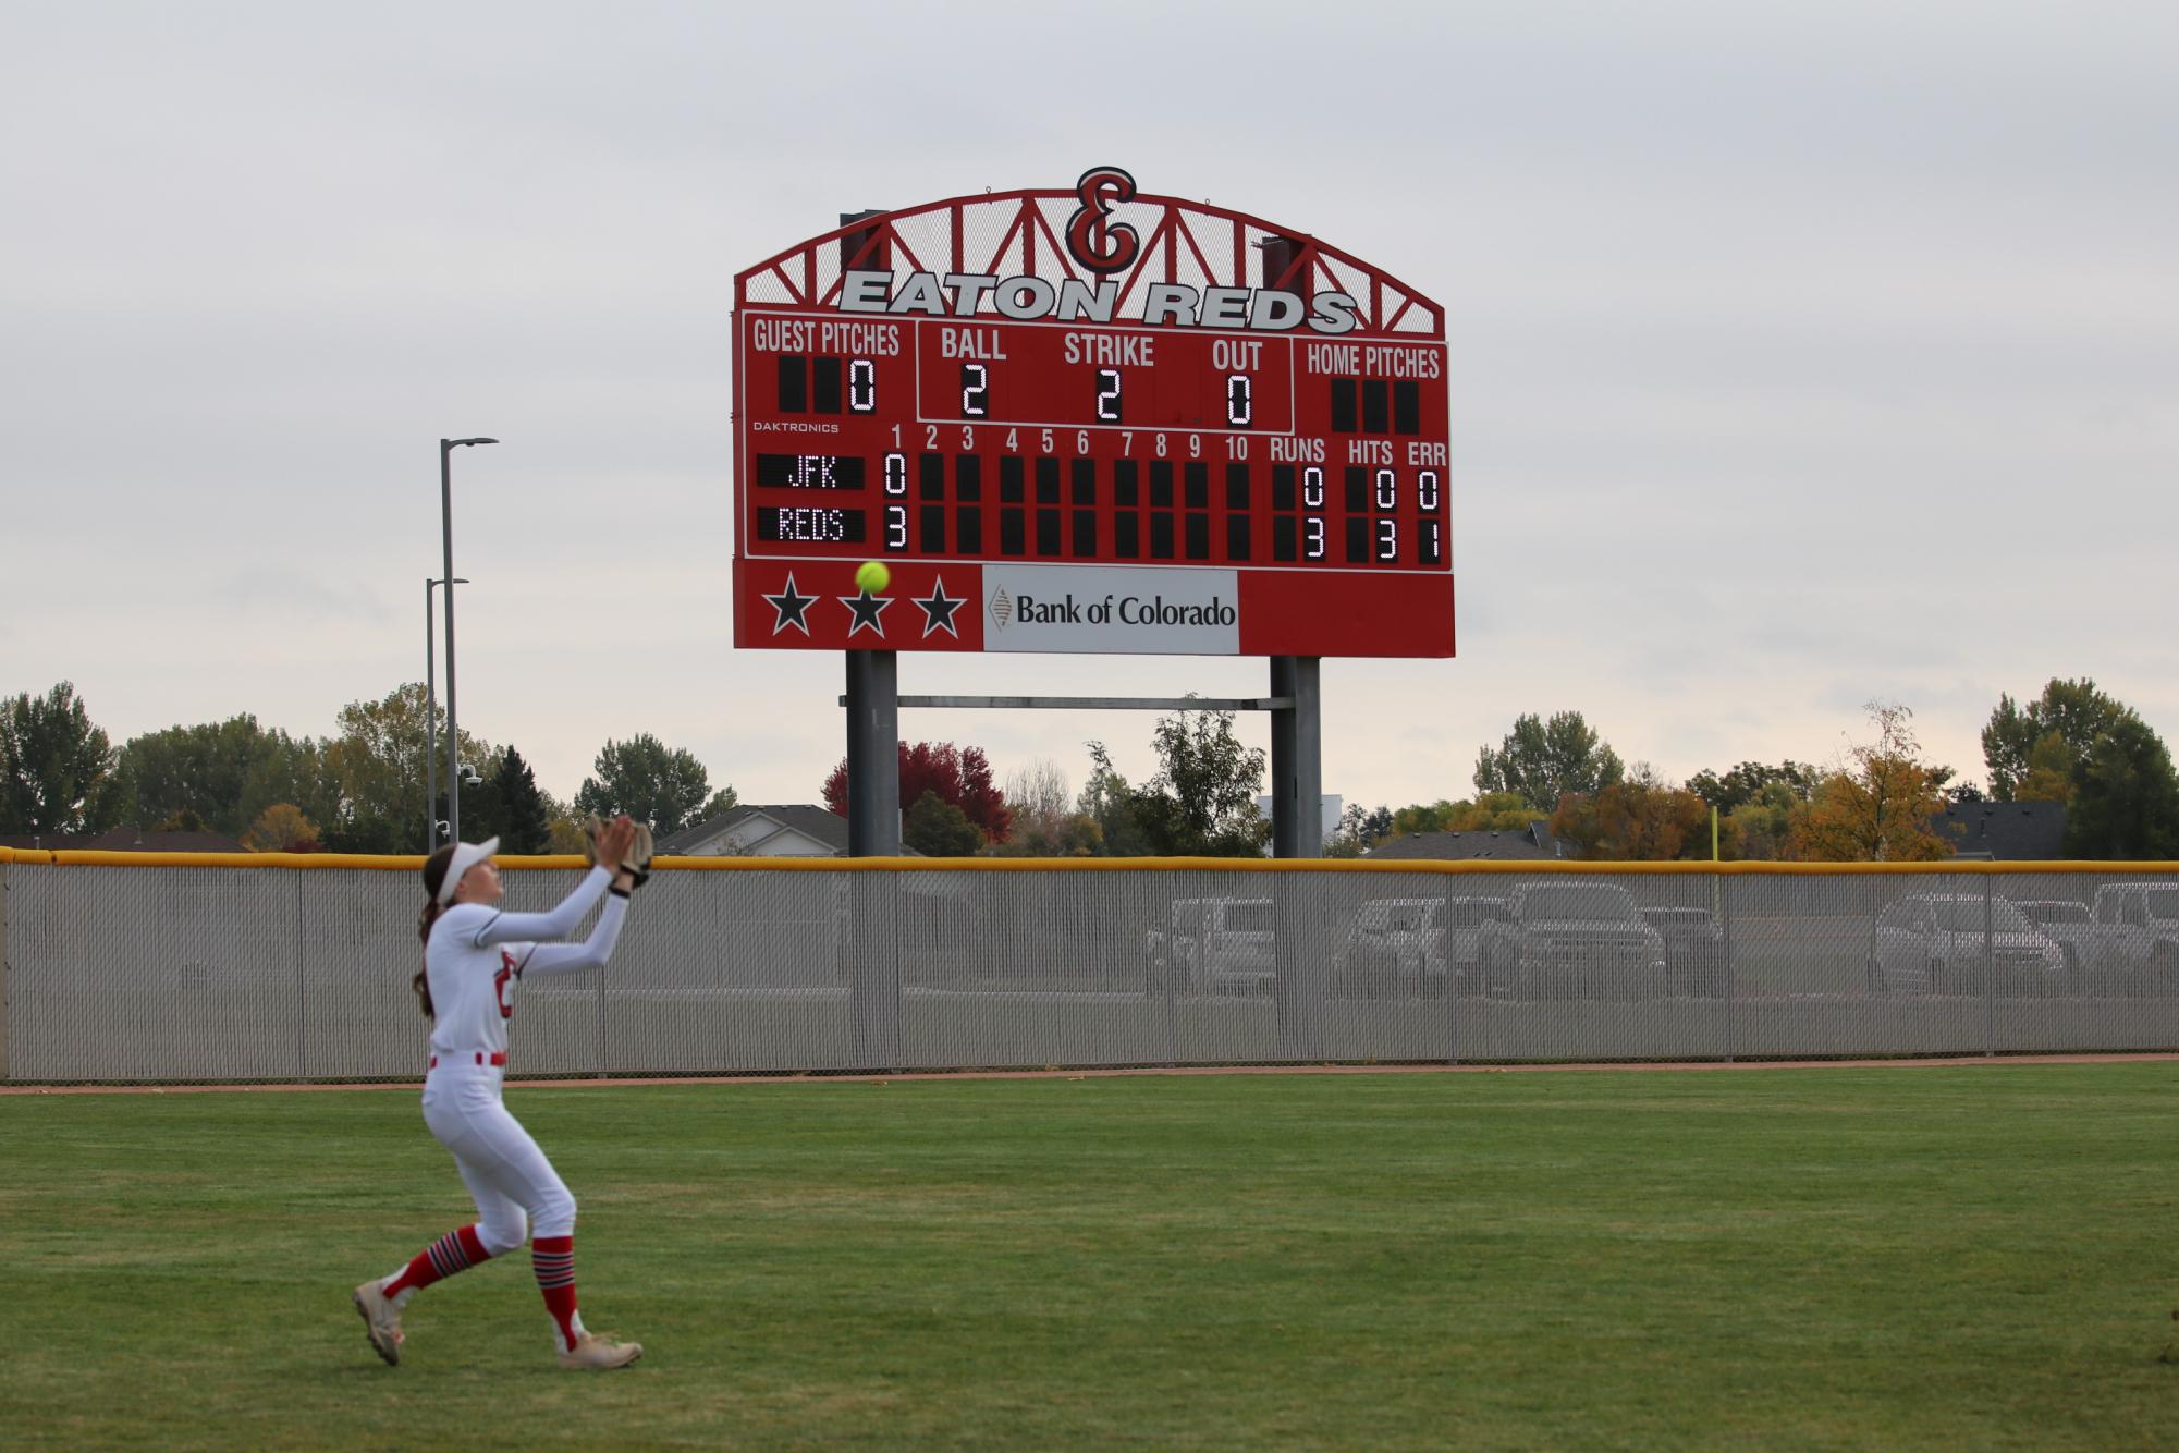
[[[869,497],[861,536],[760,523],[776,553],[869,540],[939,560],[1451,569],[1442,344],[859,327],[867,357],[795,353],[806,329],[743,322],[758,510],[789,490]],[[765,451],[767,434],[808,438],[793,425],[828,429],[826,451]]]

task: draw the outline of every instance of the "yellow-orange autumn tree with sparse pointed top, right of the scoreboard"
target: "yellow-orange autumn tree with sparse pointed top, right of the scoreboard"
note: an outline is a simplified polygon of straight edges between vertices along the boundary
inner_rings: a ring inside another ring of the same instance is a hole
[[[1846,749],[1793,821],[1787,852],[1819,863],[1926,863],[1952,856],[1931,819],[1944,810],[1941,767],[1922,760],[1913,712],[1870,701],[1876,738]]]

